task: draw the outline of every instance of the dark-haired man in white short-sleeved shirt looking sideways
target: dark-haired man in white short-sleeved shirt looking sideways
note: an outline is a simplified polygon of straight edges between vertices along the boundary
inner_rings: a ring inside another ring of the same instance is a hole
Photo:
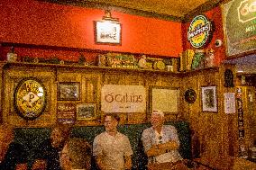
[[[105,132],[94,139],[93,156],[101,170],[132,168],[133,150],[128,137],[117,131],[119,121],[117,114],[106,114]]]

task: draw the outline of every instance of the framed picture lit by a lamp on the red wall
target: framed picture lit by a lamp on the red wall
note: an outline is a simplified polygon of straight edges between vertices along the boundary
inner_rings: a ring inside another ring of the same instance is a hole
[[[96,44],[121,45],[121,23],[94,22]]]

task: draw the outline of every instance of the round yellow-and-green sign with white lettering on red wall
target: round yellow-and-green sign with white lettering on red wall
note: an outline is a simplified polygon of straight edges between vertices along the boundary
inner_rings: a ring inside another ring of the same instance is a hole
[[[194,48],[201,48],[209,42],[211,38],[212,26],[211,22],[205,15],[197,15],[192,22],[190,22],[187,31],[187,40]]]

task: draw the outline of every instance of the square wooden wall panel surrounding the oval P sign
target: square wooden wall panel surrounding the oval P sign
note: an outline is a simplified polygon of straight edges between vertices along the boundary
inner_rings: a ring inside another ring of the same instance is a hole
[[[25,121],[14,111],[14,89],[16,85],[26,77],[35,77],[41,80],[47,90],[47,105],[42,115],[33,120]],[[36,68],[20,68],[11,67],[5,69],[5,91],[4,105],[5,111],[4,121],[17,127],[35,127],[48,126],[56,121],[56,85],[54,79],[54,71],[51,69]]]

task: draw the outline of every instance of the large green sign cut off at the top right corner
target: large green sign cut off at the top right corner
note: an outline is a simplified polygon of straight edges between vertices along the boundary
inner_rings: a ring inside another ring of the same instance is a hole
[[[256,0],[233,0],[224,4],[227,56],[256,49]]]

